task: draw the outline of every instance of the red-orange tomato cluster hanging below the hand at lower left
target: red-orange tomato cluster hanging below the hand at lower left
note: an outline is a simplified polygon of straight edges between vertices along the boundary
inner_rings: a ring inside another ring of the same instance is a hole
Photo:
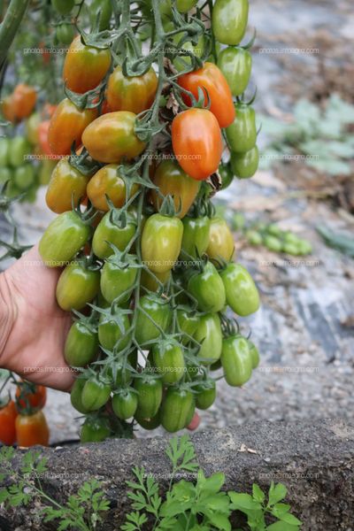
[[[42,408],[47,389],[28,381],[14,381],[15,399],[9,395],[0,402],[0,443],[21,447],[48,446],[49,428]]]

